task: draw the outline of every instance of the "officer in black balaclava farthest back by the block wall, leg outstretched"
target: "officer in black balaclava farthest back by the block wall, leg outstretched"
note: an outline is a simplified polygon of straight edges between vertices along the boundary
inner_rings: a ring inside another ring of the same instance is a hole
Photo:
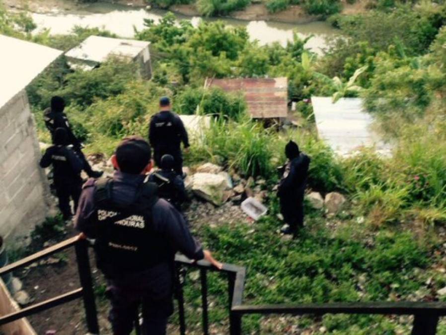
[[[68,122],[67,115],[64,113],[65,101],[59,96],[54,96],[51,98],[51,107],[43,111],[43,120],[45,121],[45,126],[51,133],[51,138],[53,144],[55,144],[55,132],[57,128],[64,128],[67,132],[68,144],[72,144],[74,150],[80,159],[83,160],[83,170],[87,173],[89,177],[99,178],[102,176],[102,171],[93,171],[88,164],[84,154],[81,151],[82,143],[73,134],[70,123]]]

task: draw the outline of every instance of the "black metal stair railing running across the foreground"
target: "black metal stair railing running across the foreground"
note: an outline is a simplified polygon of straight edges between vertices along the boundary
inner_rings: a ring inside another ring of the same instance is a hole
[[[0,316],[0,326],[17,319],[44,311],[46,309],[64,304],[77,298],[83,298],[88,332],[99,334],[94,293],[92,288],[91,272],[88,259],[88,242],[73,237],[55,246],[49,247],[37,254],[31,255],[18,262],[0,268],[0,275],[14,269],[34,263],[41,258],[50,256],[69,247],[75,247],[81,287],[44,302],[26,307],[18,312]],[[441,302],[355,302],[355,303],[326,303],[326,304],[296,304],[296,305],[243,305],[243,288],[246,270],[244,267],[223,264],[222,269],[212,267],[206,261],[193,262],[184,256],[175,257],[177,278],[178,314],[180,319],[180,334],[186,333],[186,320],[184,314],[183,297],[183,271],[182,267],[198,268],[200,271],[202,294],[202,326],[203,334],[209,333],[208,320],[208,281],[207,271],[219,271],[227,277],[228,283],[228,317],[229,334],[242,334],[242,318],[247,314],[380,314],[380,315],[414,315],[412,335],[434,335],[437,331],[439,318],[446,315],[446,303]],[[139,334],[139,322],[135,323]]]

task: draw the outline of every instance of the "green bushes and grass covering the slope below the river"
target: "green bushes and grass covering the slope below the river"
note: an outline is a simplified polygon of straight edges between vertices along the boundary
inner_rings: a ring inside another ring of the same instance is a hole
[[[335,4],[320,1],[308,8],[328,15],[334,10],[321,8]],[[77,28],[66,38],[31,36],[25,25],[12,23],[17,17],[0,15],[6,18],[0,21],[3,33],[64,49],[80,36],[109,34]],[[119,60],[73,72],[60,59],[28,87],[28,94],[42,140],[48,140],[42,110],[59,94],[86,151],[106,154],[122,136],[147,136],[158,97],[168,95],[179,113],[216,116],[192,142],[188,164],[213,161],[244,178],[261,176],[268,190],[277,181],[275,167],[284,161],[285,143],[295,139],[311,157],[309,188],[346,195],[343,211],[327,215],[308,206],[302,235],[287,241],[276,233],[278,200],[270,193],[269,214],[259,222],[196,231],[224,262],[247,267],[249,303],[445,300],[437,294],[446,285],[445,18],[444,4],[414,9],[379,1],[366,14],[334,17],[344,37],[318,57],[297,34],[285,47],[259,46],[245,29],[222,22],[194,28],[187,21],[176,24],[167,14],[158,24],[147,20],[135,34],[152,43],[152,80],[142,80],[133,64]],[[241,95],[203,88],[206,78],[265,75],[288,77],[301,124],[297,130],[265,128],[247,117]],[[315,134],[311,105],[304,101],[312,95],[363,97],[375,127],[394,147],[392,157],[372,149],[335,156]],[[210,319],[219,328],[227,322],[224,279],[209,278]],[[199,282],[188,283],[189,324],[199,330]],[[331,334],[401,334],[410,327],[408,318],[380,316],[302,317],[286,325],[274,317],[244,319],[246,334],[283,334],[292,323],[301,330],[318,323]],[[443,321],[439,332],[446,334]]]

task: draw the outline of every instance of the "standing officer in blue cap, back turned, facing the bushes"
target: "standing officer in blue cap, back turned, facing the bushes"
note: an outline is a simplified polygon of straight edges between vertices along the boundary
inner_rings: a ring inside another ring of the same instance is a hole
[[[153,115],[149,125],[149,142],[153,147],[153,158],[157,166],[161,166],[161,157],[172,155],[174,171],[183,175],[183,155],[181,142],[185,150],[189,148],[189,139],[183,122],[175,113],[170,111],[170,100],[162,97],[159,100],[160,112]]]

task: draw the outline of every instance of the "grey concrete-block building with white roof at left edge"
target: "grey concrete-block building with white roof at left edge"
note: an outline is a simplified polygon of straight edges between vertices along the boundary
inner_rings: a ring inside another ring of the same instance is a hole
[[[45,219],[46,178],[25,86],[62,52],[0,35],[0,235]]]

